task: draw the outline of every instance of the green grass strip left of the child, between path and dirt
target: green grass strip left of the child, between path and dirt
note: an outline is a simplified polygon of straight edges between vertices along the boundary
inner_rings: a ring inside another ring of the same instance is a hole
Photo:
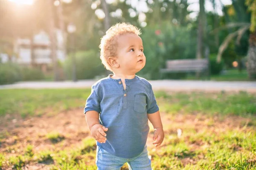
[[[83,107],[90,89],[0,90],[0,116],[40,116]]]

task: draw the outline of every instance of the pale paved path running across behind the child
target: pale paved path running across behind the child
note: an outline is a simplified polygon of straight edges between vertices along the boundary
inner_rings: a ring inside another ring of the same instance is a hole
[[[96,80],[78,82],[18,82],[12,85],[0,85],[0,89],[9,88],[90,88]],[[172,91],[248,91],[256,92],[256,82],[215,82],[190,80],[151,80],[154,90]]]

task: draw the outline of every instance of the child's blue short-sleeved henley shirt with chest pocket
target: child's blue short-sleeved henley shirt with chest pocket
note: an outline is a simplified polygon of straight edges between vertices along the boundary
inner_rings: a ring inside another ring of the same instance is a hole
[[[124,90],[121,79],[110,76],[92,86],[84,113],[97,111],[100,124],[108,127],[107,141],[97,145],[115,156],[130,159],[140,155],[145,147],[149,132],[147,113],[155,113],[159,108],[146,79],[125,79]]]

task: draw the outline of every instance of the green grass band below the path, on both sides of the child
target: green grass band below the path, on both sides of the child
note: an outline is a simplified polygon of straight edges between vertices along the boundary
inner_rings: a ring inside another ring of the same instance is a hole
[[[0,90],[0,116],[19,114],[24,118],[54,115],[72,108],[83,108],[89,95],[89,89]],[[243,91],[238,94],[223,91],[211,95],[203,92],[167,94],[159,91],[155,96],[160,98],[158,102],[166,99],[160,105],[161,110],[170,113],[183,111],[241,116],[256,113],[256,96]]]

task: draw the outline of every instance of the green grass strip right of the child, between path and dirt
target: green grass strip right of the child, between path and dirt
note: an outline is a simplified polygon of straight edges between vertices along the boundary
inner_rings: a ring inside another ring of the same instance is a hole
[[[162,96],[163,95],[163,96]],[[193,113],[251,116],[256,113],[256,96],[246,92],[238,94],[207,94],[203,92],[166,94],[158,92],[160,110],[168,113]],[[170,104],[171,103],[171,104]]]

